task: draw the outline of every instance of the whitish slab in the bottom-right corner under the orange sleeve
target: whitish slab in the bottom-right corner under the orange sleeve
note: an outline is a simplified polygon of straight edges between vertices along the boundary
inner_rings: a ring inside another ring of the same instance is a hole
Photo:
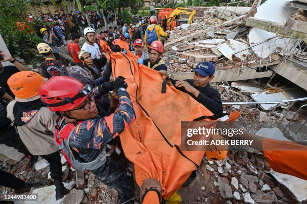
[[[288,188],[298,201],[307,199],[307,180],[297,178],[288,174],[271,171],[270,174],[281,184]]]

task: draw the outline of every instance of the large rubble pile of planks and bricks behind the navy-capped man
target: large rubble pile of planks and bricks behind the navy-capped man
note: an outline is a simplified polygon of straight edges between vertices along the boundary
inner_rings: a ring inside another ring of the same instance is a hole
[[[169,72],[191,72],[197,63],[204,61],[214,62],[216,70],[257,68],[260,61],[262,66],[278,64],[281,57],[276,50],[263,57],[261,49],[250,48],[257,39],[249,35],[249,27],[242,25],[249,10],[239,9],[242,11],[222,8],[231,14],[225,18],[227,12],[221,16],[221,8],[213,7],[204,11],[206,18],[196,19],[188,28],[179,26],[171,31],[164,54]]]

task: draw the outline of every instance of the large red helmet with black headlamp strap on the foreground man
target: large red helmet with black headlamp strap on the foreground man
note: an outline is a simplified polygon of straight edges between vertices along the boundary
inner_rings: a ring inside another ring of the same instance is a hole
[[[78,107],[91,89],[72,77],[57,76],[51,77],[38,92],[52,112],[63,112]]]

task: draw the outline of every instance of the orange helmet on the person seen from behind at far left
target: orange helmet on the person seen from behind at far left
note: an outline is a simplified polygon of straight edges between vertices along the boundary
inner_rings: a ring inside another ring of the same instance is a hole
[[[44,84],[44,77],[36,72],[22,71],[8,79],[8,85],[17,98],[27,99],[38,95],[38,89]]]

